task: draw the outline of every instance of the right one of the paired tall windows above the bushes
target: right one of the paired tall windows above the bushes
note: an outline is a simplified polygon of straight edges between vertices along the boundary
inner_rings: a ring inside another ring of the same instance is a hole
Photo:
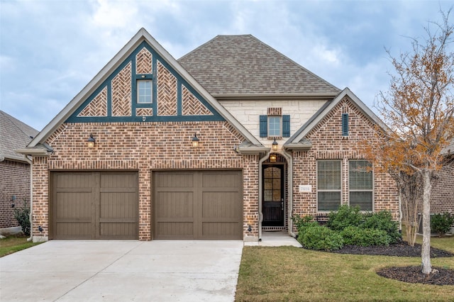
[[[372,164],[367,160],[348,162],[348,189],[350,206],[360,206],[360,211],[373,211]]]

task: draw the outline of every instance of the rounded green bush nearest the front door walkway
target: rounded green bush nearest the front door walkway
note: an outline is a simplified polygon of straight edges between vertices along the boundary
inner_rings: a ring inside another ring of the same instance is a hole
[[[299,229],[298,241],[309,250],[339,250],[343,247],[341,234],[317,223]]]

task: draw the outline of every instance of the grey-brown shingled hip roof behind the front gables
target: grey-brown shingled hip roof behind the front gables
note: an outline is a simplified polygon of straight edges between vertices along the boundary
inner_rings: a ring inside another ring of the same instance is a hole
[[[178,62],[214,97],[319,96],[341,91],[253,35],[217,35]]]

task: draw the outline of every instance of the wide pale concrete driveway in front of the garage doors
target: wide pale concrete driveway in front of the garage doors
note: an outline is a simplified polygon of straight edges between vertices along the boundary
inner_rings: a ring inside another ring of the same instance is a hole
[[[243,241],[51,240],[0,258],[0,301],[233,301]]]

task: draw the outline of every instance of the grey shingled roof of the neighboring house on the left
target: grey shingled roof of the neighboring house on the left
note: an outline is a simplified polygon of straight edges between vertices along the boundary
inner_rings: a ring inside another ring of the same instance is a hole
[[[0,161],[26,162],[23,155],[14,150],[23,149],[38,134],[38,130],[0,111]]]

